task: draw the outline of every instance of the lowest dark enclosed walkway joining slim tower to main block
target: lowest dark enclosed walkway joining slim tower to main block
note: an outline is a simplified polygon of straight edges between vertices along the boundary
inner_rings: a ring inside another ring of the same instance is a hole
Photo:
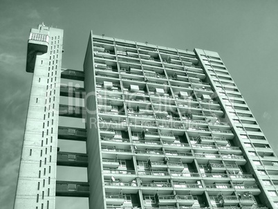
[[[56,181],[56,196],[89,197],[89,183],[78,181]]]

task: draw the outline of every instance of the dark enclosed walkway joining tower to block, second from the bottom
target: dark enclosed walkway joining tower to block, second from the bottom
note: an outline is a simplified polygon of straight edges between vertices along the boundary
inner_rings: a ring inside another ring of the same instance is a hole
[[[58,152],[57,165],[87,167],[88,155],[82,153],[73,153],[73,152]]]

